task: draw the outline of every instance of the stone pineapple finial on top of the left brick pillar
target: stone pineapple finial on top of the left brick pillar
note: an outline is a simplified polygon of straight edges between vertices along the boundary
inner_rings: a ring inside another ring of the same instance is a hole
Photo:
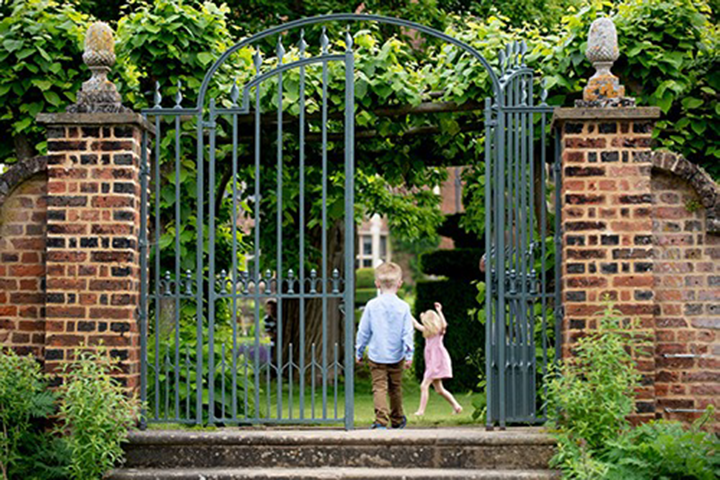
[[[71,113],[116,113],[129,111],[123,107],[115,84],[108,80],[110,68],[115,65],[115,39],[105,22],[90,25],[85,34],[83,61],[92,76],[83,83],[77,102],[67,108]]]

